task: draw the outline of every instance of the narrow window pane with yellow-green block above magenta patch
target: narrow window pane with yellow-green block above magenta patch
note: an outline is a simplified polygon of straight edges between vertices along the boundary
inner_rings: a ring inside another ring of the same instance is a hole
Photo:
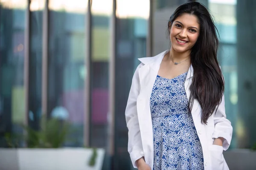
[[[108,147],[108,82],[110,44],[110,16],[112,0],[93,0],[91,42],[91,138],[92,147]]]

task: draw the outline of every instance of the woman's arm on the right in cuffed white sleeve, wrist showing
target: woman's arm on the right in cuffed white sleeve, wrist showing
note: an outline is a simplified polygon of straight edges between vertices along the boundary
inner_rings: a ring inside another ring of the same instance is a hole
[[[224,95],[216,113],[213,113],[213,121],[215,127],[212,134],[212,138],[214,139],[213,144],[222,145],[223,149],[227,150],[230,146],[233,127],[231,126],[231,122],[226,118]]]

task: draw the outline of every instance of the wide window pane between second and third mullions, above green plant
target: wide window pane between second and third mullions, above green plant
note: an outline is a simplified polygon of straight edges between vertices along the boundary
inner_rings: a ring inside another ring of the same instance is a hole
[[[47,114],[70,122],[66,146],[83,146],[86,10],[86,0],[49,0]]]

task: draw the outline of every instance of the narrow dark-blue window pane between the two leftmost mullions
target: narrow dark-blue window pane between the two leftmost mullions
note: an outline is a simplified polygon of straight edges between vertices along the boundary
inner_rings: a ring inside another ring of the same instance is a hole
[[[30,2],[29,126],[39,128],[42,98],[42,28],[44,0]]]

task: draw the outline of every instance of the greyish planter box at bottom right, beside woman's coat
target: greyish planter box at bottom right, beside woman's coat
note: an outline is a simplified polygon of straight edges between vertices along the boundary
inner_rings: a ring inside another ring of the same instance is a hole
[[[233,149],[223,155],[230,170],[256,170],[256,151]]]

